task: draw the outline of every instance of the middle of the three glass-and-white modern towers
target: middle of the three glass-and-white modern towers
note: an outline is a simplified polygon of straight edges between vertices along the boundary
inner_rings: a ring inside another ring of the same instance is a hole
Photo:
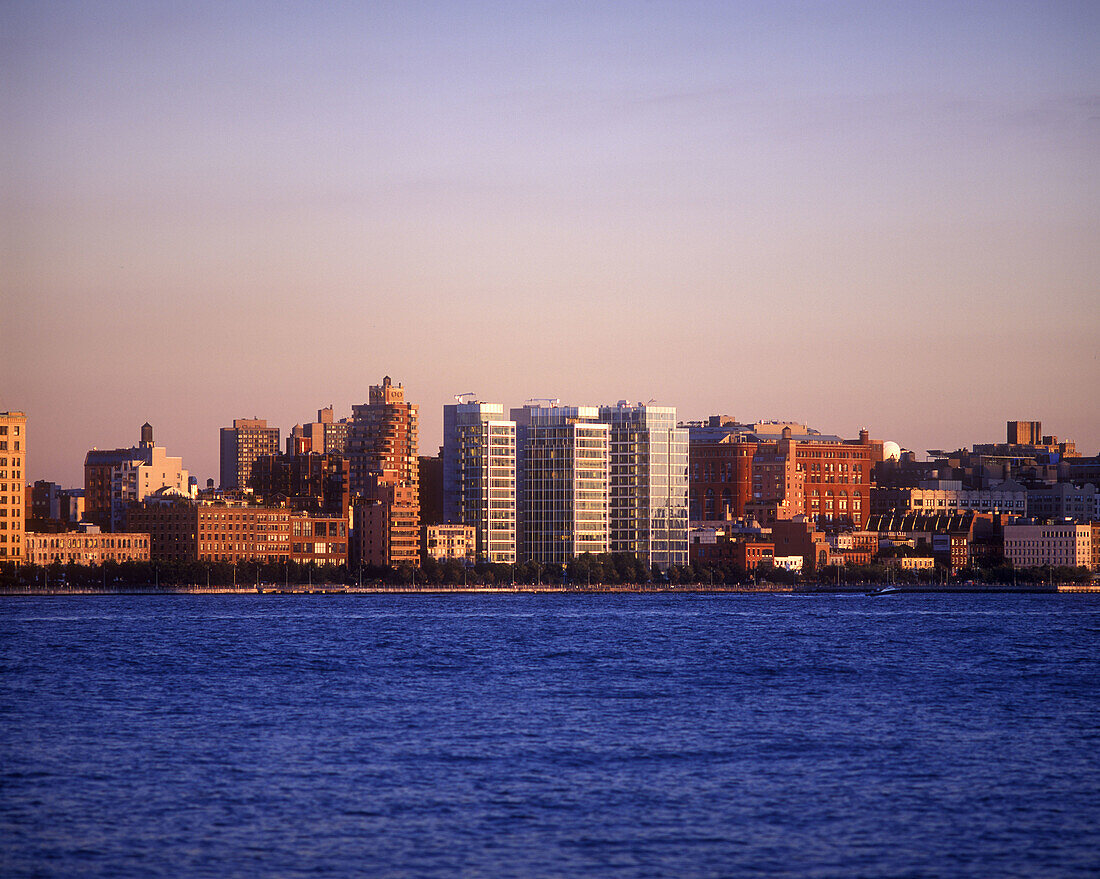
[[[564,564],[607,552],[608,425],[594,406],[527,405],[516,422],[520,558]]]

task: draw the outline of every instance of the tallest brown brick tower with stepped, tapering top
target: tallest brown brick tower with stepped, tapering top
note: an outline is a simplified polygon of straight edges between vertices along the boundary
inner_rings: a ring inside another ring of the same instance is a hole
[[[352,406],[350,487],[363,529],[356,540],[360,558],[372,563],[419,563],[418,430],[417,406],[388,375],[371,387],[370,403]]]

